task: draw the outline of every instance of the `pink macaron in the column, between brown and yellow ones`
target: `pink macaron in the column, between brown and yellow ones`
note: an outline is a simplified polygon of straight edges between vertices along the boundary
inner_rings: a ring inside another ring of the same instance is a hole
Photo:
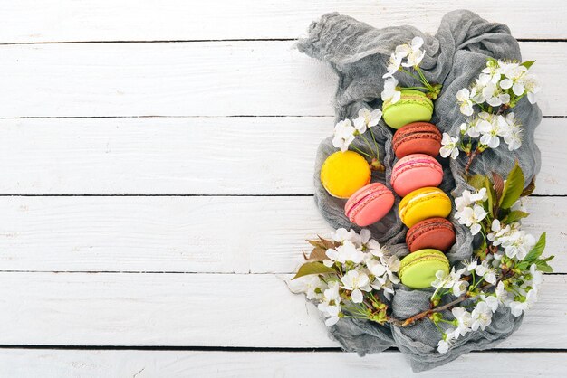
[[[443,181],[443,167],[435,157],[411,154],[402,157],[392,168],[390,184],[403,197],[416,189],[437,186]]]

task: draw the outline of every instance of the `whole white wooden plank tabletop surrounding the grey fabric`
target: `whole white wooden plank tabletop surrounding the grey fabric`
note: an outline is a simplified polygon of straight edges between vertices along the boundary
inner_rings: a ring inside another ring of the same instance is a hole
[[[330,11],[433,33],[457,6],[537,60],[528,225],[556,273],[516,334],[421,376],[565,376],[561,0],[0,1],[0,376],[410,375],[341,353],[283,282],[329,230],[312,159],[335,77],[293,43]]]

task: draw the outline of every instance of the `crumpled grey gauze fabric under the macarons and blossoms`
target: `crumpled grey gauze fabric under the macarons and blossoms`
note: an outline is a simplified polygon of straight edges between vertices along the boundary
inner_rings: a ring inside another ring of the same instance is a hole
[[[465,118],[456,104],[456,91],[468,87],[473,82],[485,67],[487,57],[521,60],[518,43],[510,35],[505,24],[489,23],[477,14],[460,10],[446,14],[436,35],[431,36],[412,26],[376,29],[345,15],[325,14],[319,22],[311,25],[309,35],[299,41],[297,48],[313,58],[329,62],[339,76],[335,97],[338,121],[356,118],[361,108],[381,108],[380,92],[384,83],[382,75],[386,72],[389,55],[397,45],[407,43],[416,35],[425,41],[426,56],[420,67],[429,82],[443,84],[443,90],[435,101],[432,122],[442,132],[458,135],[459,125]],[[417,84],[403,73],[397,73],[396,78],[404,87]],[[530,104],[527,99],[522,99],[514,108],[514,112],[524,126],[522,147],[509,152],[502,143],[495,150],[485,151],[476,158],[472,173],[488,174],[494,171],[505,176],[514,166],[515,160],[518,160],[524,170],[525,184],[538,173],[540,152],[533,142],[533,131],[542,117],[540,109]],[[380,125],[373,130],[380,145],[380,159],[386,166],[386,171],[373,173],[372,181],[389,186],[391,168],[396,162],[391,147],[392,129],[380,121]],[[330,127],[330,134],[331,132]],[[370,138],[369,131],[366,137]],[[367,150],[359,139],[355,140],[355,146]],[[327,194],[319,179],[322,162],[335,151],[331,137],[323,140],[319,146],[314,173],[315,202],[323,217],[333,227],[358,229],[344,215],[345,201]],[[445,170],[440,187],[453,197],[464,189],[472,189],[462,176],[466,158],[461,154],[456,160],[439,159]],[[397,216],[398,205],[399,199],[394,204],[393,211],[380,222],[371,225],[370,231],[375,239],[388,246],[391,253],[401,258],[408,254],[404,243],[407,228]],[[456,244],[447,253],[447,257],[453,264],[457,264],[458,261],[471,257],[473,247],[478,241],[466,227],[455,222],[454,211],[449,219],[456,227]],[[397,285],[396,293],[389,304],[393,316],[405,318],[427,309],[430,295],[430,290],[412,290],[401,284]],[[452,318],[448,311],[445,316]],[[509,309],[499,308],[490,326],[484,331],[472,332],[458,339],[447,354],[437,353],[440,333],[429,320],[420,321],[414,326],[398,327],[380,326],[357,319],[341,319],[336,326],[332,326],[331,334],[341,343],[343,349],[360,355],[397,346],[408,356],[414,371],[423,371],[446,364],[460,354],[494,347],[511,335],[521,321],[522,318],[512,316]]]

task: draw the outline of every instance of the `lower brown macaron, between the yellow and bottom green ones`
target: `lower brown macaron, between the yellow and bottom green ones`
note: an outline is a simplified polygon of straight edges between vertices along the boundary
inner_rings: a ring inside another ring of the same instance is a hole
[[[455,241],[453,223],[439,217],[417,222],[411,226],[406,234],[406,244],[408,244],[410,252],[428,248],[447,252],[455,244]]]

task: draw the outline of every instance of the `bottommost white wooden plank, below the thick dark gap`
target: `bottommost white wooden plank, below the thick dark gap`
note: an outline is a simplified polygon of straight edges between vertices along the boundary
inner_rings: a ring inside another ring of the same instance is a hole
[[[30,364],[34,361],[34,364]],[[194,352],[194,351],[108,351],[108,350],[24,350],[7,349],[0,354],[0,373],[4,376],[61,378],[125,377],[169,378],[264,378],[319,376],[507,377],[562,376],[567,368],[565,353],[502,352],[466,354],[433,371],[412,373],[399,352],[357,354],[341,352]]]

